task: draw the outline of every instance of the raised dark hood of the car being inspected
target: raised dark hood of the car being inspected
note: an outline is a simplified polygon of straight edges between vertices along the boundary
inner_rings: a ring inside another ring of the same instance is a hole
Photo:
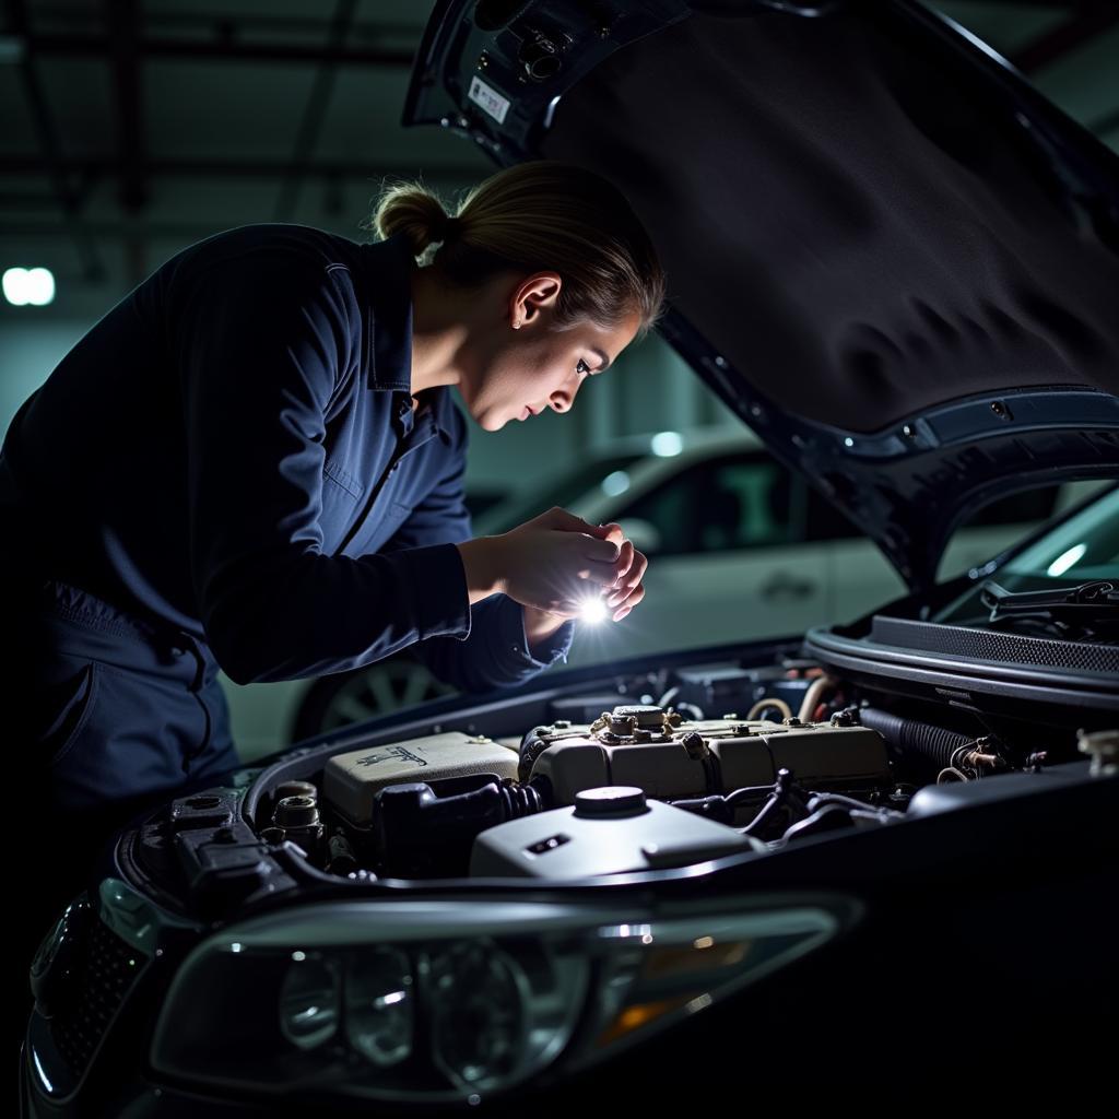
[[[1119,472],[1119,158],[918,3],[445,0],[404,119],[617,182],[660,332],[914,590]]]

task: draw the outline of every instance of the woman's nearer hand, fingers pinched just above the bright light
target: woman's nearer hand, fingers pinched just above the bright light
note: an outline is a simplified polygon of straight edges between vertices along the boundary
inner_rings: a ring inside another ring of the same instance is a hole
[[[617,526],[613,526],[617,528]],[[524,525],[490,537],[496,553],[496,590],[521,605],[574,618],[589,598],[614,586],[622,556],[611,526],[591,525],[558,506]],[[632,551],[632,545],[630,545]]]

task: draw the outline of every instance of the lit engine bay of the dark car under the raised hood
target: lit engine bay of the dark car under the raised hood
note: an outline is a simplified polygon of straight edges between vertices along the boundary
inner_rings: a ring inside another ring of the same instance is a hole
[[[1116,733],[1074,713],[1008,718],[788,656],[602,683],[358,739],[258,790],[255,831],[339,880],[580,880],[902,824],[953,807],[948,787],[1085,753],[1113,765]]]

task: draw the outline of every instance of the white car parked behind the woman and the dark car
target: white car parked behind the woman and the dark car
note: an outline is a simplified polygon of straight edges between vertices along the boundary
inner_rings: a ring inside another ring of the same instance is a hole
[[[941,574],[986,562],[1031,524],[1068,508],[1084,485],[989,506],[956,534]],[[619,523],[650,558],[640,609],[617,626],[581,624],[570,665],[779,637],[856,618],[904,593],[882,552],[744,427],[617,441],[551,487],[491,506],[474,519],[474,534],[502,533],[556,505],[594,524]],[[222,680],[246,760],[453,692],[405,655],[318,680]]]

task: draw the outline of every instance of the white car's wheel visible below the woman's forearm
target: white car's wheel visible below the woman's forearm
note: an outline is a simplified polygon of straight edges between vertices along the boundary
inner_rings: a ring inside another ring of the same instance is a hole
[[[423,665],[393,658],[352,673],[323,676],[308,690],[295,714],[292,742],[302,742],[401,707],[453,695]]]

